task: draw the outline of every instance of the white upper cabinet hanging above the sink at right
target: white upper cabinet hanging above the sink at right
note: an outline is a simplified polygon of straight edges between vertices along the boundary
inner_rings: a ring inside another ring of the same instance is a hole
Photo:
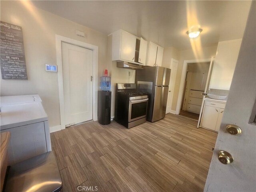
[[[229,90],[242,39],[218,43],[210,80],[211,89]]]

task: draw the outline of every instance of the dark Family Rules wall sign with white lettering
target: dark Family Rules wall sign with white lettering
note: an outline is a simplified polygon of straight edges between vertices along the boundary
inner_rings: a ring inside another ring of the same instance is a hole
[[[22,36],[22,28],[6,22],[1,26],[1,73],[2,79],[27,80],[26,60]]]

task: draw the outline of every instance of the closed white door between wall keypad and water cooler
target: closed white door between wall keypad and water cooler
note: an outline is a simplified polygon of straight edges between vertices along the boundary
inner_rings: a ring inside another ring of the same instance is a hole
[[[92,50],[62,42],[65,125],[92,120]]]

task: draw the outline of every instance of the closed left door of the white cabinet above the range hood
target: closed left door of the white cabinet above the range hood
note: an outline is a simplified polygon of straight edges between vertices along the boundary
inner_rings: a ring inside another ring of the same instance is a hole
[[[120,59],[134,61],[136,36],[122,31]]]

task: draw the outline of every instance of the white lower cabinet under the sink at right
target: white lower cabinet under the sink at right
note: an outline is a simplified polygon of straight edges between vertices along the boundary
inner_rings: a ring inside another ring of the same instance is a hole
[[[214,104],[215,102],[211,102],[211,103]],[[216,106],[218,106],[218,104],[219,103],[216,103]],[[220,123],[222,120],[223,113],[224,113],[223,108],[208,106],[206,105],[206,102],[205,102],[200,126],[218,132],[220,130]]]

